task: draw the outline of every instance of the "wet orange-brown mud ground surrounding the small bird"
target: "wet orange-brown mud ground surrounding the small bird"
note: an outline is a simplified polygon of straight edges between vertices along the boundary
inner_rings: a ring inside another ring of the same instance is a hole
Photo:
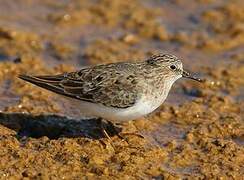
[[[244,4],[185,2],[0,0],[0,178],[243,179]],[[17,78],[155,52],[205,82],[178,80],[123,138]]]

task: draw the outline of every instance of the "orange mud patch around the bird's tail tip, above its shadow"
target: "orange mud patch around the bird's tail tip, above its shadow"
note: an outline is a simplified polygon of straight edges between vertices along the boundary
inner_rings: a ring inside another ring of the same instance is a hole
[[[68,66],[57,66],[55,69],[45,67],[40,59],[31,57],[22,57],[21,63],[3,62],[0,64],[0,69],[4,69],[0,73],[2,84],[11,81],[8,87],[8,93],[14,93],[20,98],[16,105],[5,107],[6,112],[28,112],[34,114],[53,113],[59,111],[59,106],[52,100],[47,91],[36,88],[31,84],[25,83],[18,79],[19,74],[52,74],[62,73],[72,70]],[[29,92],[29,93],[26,93]]]

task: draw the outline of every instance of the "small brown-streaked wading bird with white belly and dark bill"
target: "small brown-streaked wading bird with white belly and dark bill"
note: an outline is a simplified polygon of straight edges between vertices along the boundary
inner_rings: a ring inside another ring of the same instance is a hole
[[[75,101],[87,116],[113,123],[153,112],[181,77],[201,82],[184,71],[181,60],[170,54],[153,55],[144,61],[96,65],[60,75],[19,76]]]

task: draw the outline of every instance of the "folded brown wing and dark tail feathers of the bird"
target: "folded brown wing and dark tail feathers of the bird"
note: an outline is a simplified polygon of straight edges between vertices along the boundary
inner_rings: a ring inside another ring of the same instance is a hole
[[[71,98],[110,107],[130,107],[138,98],[135,74],[112,66],[95,66],[54,76],[20,75],[19,78]]]

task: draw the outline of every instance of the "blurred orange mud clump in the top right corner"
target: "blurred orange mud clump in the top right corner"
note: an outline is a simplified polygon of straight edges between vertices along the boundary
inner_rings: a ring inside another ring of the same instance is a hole
[[[226,50],[244,43],[244,6],[241,1],[231,1],[213,10],[207,10],[203,19],[211,27],[213,36],[202,46],[211,50]]]

